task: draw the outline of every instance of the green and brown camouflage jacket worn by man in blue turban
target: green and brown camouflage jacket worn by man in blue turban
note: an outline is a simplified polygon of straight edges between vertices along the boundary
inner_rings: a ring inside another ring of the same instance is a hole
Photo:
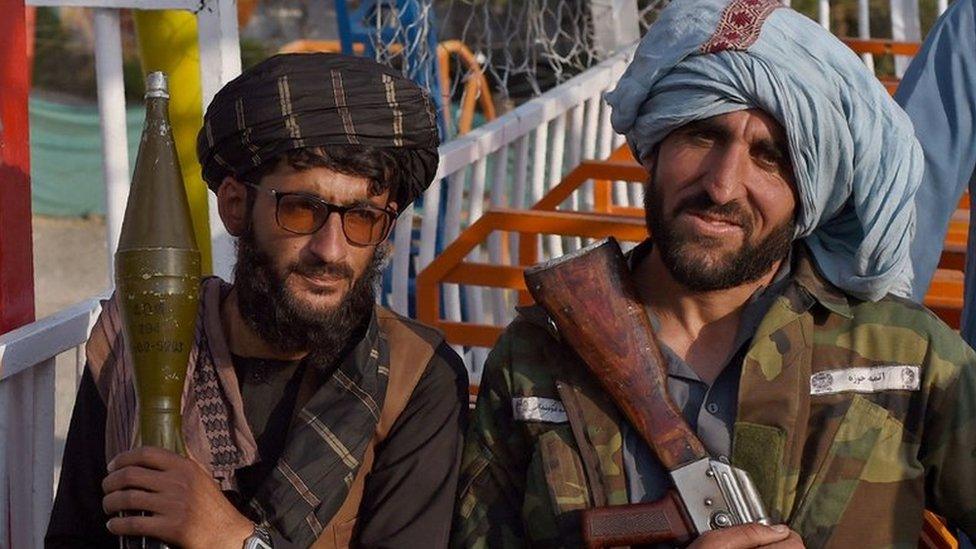
[[[743,362],[733,464],[808,547],[915,547],[925,507],[976,533],[976,354],[921,306],[857,301],[795,255]],[[565,417],[516,421],[521,397]],[[482,378],[453,545],[580,545],[580,509],[628,502],[620,425],[545,314],[521,311]]]

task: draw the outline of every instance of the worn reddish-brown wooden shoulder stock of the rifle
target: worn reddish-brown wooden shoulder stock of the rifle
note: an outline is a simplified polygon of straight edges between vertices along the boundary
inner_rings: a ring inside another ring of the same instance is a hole
[[[665,468],[708,456],[668,396],[664,356],[616,240],[531,267],[525,281]]]

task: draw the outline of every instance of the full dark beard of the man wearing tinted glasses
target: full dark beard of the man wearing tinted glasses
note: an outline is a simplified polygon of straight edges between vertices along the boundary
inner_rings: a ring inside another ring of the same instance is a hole
[[[376,302],[374,284],[386,259],[386,246],[376,247],[363,274],[342,301],[328,311],[311,311],[294,299],[278,276],[270,256],[261,250],[250,228],[237,241],[234,288],[244,322],[268,344],[283,352],[307,351],[309,359],[328,367],[345,353],[365,329]],[[333,274],[352,278],[346,265],[299,263],[289,272],[306,275]]]

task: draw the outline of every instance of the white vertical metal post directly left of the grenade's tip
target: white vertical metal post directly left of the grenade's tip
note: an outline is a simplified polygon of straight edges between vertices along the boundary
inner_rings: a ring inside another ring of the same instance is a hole
[[[129,199],[129,142],[125,119],[125,85],[122,79],[122,33],[119,11],[96,8],[95,77],[98,82],[98,114],[102,126],[102,160],[105,171],[105,230],[108,272],[115,272],[115,250],[122,232],[125,203]],[[109,275],[115,285],[114,277]]]

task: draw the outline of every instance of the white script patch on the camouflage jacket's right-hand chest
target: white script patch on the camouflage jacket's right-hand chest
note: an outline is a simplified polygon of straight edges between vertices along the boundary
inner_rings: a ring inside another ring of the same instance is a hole
[[[810,376],[810,394],[917,391],[920,383],[918,366],[894,364],[842,368],[818,372]]]

